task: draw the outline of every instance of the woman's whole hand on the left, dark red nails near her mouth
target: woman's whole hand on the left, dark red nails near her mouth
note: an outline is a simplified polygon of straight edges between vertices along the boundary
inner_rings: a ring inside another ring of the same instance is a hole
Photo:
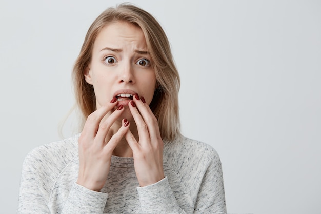
[[[102,106],[91,113],[79,137],[77,184],[87,189],[100,191],[103,188],[110,169],[112,152],[129,129],[129,123],[123,119],[121,128],[111,137],[109,142],[105,141],[110,127],[124,111],[124,106],[120,105],[105,121],[102,121],[104,116],[116,105],[117,101],[113,99],[107,106]]]

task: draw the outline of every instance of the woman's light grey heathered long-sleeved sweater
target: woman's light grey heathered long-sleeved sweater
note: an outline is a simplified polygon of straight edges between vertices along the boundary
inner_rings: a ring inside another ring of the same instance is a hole
[[[101,192],[76,184],[78,138],[33,149],[22,169],[18,213],[226,213],[216,151],[185,137],[164,142],[165,178],[138,187],[133,158],[112,157]]]

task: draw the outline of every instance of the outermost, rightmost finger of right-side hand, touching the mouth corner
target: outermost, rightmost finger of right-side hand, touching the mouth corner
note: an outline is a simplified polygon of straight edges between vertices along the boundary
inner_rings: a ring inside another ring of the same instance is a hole
[[[142,118],[148,127],[150,138],[161,138],[157,118],[149,106],[142,101],[143,99],[139,99],[138,95],[135,95],[133,98],[139,113],[142,115]]]

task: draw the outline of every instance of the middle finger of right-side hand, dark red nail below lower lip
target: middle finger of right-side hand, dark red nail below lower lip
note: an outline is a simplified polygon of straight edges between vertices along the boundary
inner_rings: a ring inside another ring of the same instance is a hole
[[[144,122],[141,114],[138,112],[134,100],[132,100],[128,104],[129,110],[131,114],[133,115],[133,118],[135,120],[137,130],[138,130],[138,136],[139,136],[139,143],[140,142],[150,142],[150,136],[149,136],[149,130],[147,124]],[[141,141],[142,140],[142,141]]]

